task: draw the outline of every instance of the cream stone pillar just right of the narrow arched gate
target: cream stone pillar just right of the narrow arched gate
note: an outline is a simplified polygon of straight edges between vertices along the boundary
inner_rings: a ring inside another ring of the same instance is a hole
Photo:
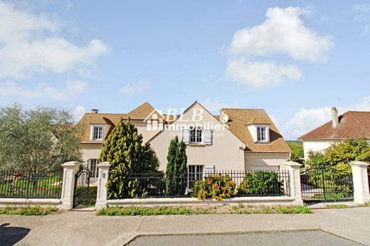
[[[97,164],[97,168],[99,169],[99,176],[97,178],[97,196],[95,208],[100,209],[107,207],[107,188],[105,187],[105,184],[109,178],[110,163],[107,161],[102,162]]]

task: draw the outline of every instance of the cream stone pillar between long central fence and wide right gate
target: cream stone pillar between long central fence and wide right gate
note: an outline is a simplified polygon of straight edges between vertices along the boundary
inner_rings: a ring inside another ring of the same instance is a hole
[[[294,205],[303,205],[302,191],[300,183],[300,167],[299,164],[294,161],[285,162],[285,170],[289,171],[290,176],[290,196],[294,198]]]

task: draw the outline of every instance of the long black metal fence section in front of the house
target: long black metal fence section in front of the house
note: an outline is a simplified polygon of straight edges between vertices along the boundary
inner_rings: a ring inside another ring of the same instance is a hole
[[[127,198],[196,197],[196,187],[211,182],[213,186],[230,186],[231,197],[290,196],[289,171],[214,171],[174,177],[164,173],[131,173],[126,181],[133,191]]]

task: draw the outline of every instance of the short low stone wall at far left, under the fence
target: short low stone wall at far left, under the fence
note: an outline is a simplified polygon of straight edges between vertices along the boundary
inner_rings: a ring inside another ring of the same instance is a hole
[[[0,207],[5,206],[26,206],[26,205],[41,205],[41,206],[56,206],[63,208],[60,199],[43,199],[43,198],[0,198]]]

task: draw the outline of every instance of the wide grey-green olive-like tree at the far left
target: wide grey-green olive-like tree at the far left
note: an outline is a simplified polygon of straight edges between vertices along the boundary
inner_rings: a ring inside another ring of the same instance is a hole
[[[0,129],[0,168],[37,173],[80,160],[82,127],[64,110],[1,107]]]

